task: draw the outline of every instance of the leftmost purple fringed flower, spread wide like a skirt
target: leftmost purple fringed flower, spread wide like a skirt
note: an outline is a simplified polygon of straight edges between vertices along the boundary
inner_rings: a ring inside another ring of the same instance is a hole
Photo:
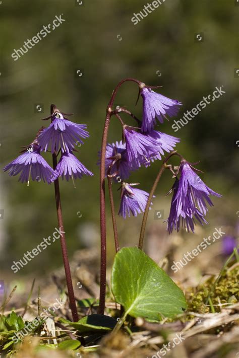
[[[53,169],[40,155],[40,148],[36,145],[31,145],[27,152],[21,154],[14,161],[4,167],[4,171],[9,171],[10,176],[19,173],[19,181],[27,182],[29,185],[30,177],[32,180],[41,181],[41,179],[48,184],[51,183],[54,175]]]

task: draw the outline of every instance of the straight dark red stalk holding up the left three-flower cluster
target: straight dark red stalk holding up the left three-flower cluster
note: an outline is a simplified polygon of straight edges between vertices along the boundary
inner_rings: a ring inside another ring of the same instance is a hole
[[[51,105],[51,114],[53,113],[53,110],[54,110],[54,108]],[[53,161],[53,169],[55,170],[55,168],[57,166],[57,157],[56,157],[55,153],[52,154],[52,161]],[[77,308],[76,308],[76,301],[75,301],[75,295],[74,295],[73,284],[72,284],[71,269],[70,269],[68,252],[67,252],[67,243],[66,243],[65,230],[64,230],[64,224],[63,224],[62,204],[61,204],[61,196],[60,196],[60,191],[59,191],[58,178],[55,179],[55,181],[54,181],[54,187],[55,187],[55,203],[56,203],[58,227],[62,232],[61,247],[62,247],[62,256],[63,256],[63,262],[64,262],[64,267],[65,267],[65,273],[66,273],[70,308],[72,311],[73,321],[77,322],[79,320],[79,317],[78,317]]]

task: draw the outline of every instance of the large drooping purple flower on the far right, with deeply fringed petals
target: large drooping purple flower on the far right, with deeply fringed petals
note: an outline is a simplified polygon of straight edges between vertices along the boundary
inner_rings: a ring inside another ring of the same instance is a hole
[[[193,167],[183,160],[180,166],[181,177],[176,178],[173,190],[172,202],[169,217],[167,219],[167,230],[169,233],[180,229],[182,226],[189,232],[194,232],[195,219],[201,224],[208,224],[204,219],[207,203],[213,206],[209,195],[221,197],[210,189],[201,178],[195,173]]]

